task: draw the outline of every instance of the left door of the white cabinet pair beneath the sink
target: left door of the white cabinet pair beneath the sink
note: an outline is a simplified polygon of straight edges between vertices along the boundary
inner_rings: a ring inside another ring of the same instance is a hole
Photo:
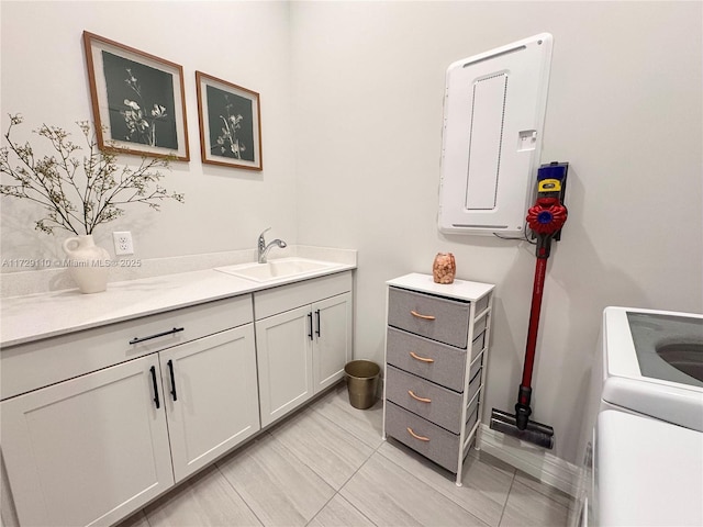
[[[256,322],[261,426],[312,396],[312,332],[310,306]]]

